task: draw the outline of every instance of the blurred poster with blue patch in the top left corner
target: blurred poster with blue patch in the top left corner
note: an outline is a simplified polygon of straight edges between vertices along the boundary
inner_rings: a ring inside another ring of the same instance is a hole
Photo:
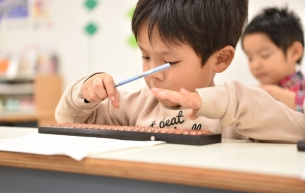
[[[0,0],[0,30],[28,27],[28,0]]]

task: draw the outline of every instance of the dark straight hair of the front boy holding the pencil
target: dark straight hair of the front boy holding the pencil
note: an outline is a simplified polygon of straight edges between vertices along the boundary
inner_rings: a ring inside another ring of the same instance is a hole
[[[202,65],[221,48],[236,44],[248,20],[249,0],[139,0],[132,18],[132,31],[147,24],[151,43],[155,26],[167,45],[188,43]]]

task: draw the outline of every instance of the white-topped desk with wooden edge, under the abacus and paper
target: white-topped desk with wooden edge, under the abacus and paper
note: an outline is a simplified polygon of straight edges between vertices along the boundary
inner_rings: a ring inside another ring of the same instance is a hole
[[[37,128],[0,127],[0,139],[21,137],[37,132]],[[305,181],[299,179],[301,173],[305,172],[305,152],[298,152],[295,144],[253,143],[238,140],[223,140],[222,143],[205,146],[160,144],[89,155],[81,162],[67,156],[0,151],[0,166],[4,166],[1,168],[7,173],[16,170],[11,167],[18,167],[31,169],[32,173],[35,169],[42,169],[44,172],[47,170],[65,172],[61,174],[66,176],[72,175],[70,173],[86,174],[87,177],[107,176],[108,178],[103,177],[104,181],[118,180],[117,177],[136,179],[126,183],[137,185],[146,183],[143,185],[145,188],[156,187],[154,184],[156,182],[168,183],[157,183],[159,187],[166,186],[163,190],[158,189],[159,192],[172,192],[170,189],[174,188],[176,188],[175,192],[189,191],[185,188],[191,188],[193,192],[197,190],[202,192],[203,187],[219,188],[208,189],[214,192],[229,192],[224,189],[252,192],[305,192]],[[1,181],[0,178],[0,192]],[[127,187],[122,187],[125,192],[128,192]],[[130,191],[137,192],[135,189]]]

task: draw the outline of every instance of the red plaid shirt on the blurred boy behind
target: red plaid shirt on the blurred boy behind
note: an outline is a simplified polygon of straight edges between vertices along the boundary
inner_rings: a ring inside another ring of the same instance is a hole
[[[303,103],[305,99],[305,79],[301,72],[296,72],[281,80],[279,86],[295,91],[296,110],[304,113]]]

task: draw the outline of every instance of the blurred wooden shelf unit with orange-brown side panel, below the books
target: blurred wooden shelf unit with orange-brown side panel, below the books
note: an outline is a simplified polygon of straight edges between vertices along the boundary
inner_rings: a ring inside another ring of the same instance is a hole
[[[36,75],[31,82],[7,81],[0,85],[7,87],[0,88],[3,106],[0,108],[0,123],[37,121],[38,126],[56,123],[55,108],[63,93],[60,75]],[[19,89],[17,86],[13,88],[14,85],[22,86]],[[28,85],[27,89],[25,85]]]

